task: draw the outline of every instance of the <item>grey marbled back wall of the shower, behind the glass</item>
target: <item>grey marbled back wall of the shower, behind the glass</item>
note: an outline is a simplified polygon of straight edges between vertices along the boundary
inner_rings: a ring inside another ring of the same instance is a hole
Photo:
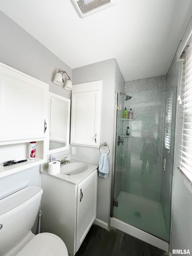
[[[161,200],[165,90],[166,76],[125,82],[125,93],[132,98],[124,101],[124,109],[132,108],[134,121],[121,121],[123,130],[119,131],[119,135],[125,134],[127,126],[130,127],[130,137],[124,137],[122,146],[121,190],[158,202]],[[131,136],[132,125],[140,126],[140,135],[137,137]],[[149,136],[151,133],[155,134],[157,144],[157,149],[154,149],[156,150],[154,170],[150,173],[149,162],[147,162],[142,176],[142,159],[140,158],[143,150],[148,151],[143,149],[143,141],[146,134]]]

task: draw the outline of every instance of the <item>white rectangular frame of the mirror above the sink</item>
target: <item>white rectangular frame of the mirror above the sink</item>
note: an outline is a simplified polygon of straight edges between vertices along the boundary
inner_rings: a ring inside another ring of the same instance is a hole
[[[50,137],[50,119],[51,119],[51,99],[58,99],[58,100],[61,100],[61,101],[65,101],[67,102],[67,140],[66,140],[66,146],[65,147],[61,147],[61,148],[58,148],[58,149],[51,149],[49,150],[49,137]],[[49,92],[49,113],[48,113],[48,131],[47,131],[47,134],[48,135],[48,151],[47,151],[47,155],[50,155],[51,153],[57,153],[57,152],[61,152],[61,151],[64,151],[64,150],[68,150],[69,149],[69,137],[70,137],[70,106],[71,106],[71,100],[68,99],[68,98],[65,98],[61,95],[58,95],[56,93],[53,93],[53,92]]]

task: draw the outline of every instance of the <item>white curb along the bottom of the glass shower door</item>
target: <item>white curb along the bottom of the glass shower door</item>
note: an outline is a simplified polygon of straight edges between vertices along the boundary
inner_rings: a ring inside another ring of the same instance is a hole
[[[149,233],[146,233],[143,230],[140,230],[137,227],[133,227],[123,221],[118,220],[117,218],[110,218],[110,225],[115,227],[131,236],[134,236],[144,242],[147,242],[151,245],[154,245],[164,251],[169,250],[169,243],[161,240],[158,237],[155,237]]]

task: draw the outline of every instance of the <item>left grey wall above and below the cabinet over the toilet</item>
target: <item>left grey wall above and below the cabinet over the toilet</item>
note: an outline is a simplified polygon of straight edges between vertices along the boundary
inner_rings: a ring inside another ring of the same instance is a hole
[[[0,11],[0,62],[49,84],[49,91],[70,98],[70,92],[52,82],[58,69],[72,69]],[[0,179],[0,198],[28,185],[40,186],[39,165]]]

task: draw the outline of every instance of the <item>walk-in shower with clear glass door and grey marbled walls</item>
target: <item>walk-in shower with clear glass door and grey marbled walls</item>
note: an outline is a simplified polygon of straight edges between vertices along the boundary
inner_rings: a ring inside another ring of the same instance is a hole
[[[117,104],[133,119],[117,111],[111,218],[169,242],[176,87],[122,94]]]

